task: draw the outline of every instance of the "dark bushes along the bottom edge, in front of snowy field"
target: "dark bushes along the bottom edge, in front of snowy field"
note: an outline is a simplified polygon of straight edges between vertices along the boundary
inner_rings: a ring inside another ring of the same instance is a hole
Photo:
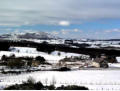
[[[40,81],[35,82],[32,77],[29,77],[26,82],[22,84],[15,84],[5,88],[5,90],[88,90],[88,88],[84,86],[77,86],[77,85],[68,85],[68,86],[60,86],[55,87],[54,84],[49,86],[43,85]]]

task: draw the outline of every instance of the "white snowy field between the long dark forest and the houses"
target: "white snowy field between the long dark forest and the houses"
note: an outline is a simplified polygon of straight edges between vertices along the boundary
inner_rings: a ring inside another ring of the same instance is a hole
[[[50,63],[58,63],[59,60],[65,58],[65,57],[71,57],[71,56],[80,56],[81,54],[75,54],[75,53],[65,53],[60,52],[61,55],[58,55],[58,51],[55,51],[51,54],[45,53],[45,52],[38,52],[36,48],[29,48],[29,47],[10,47],[10,51],[0,51],[0,58],[3,55],[10,56],[15,55],[16,57],[37,57],[42,56],[44,57],[48,62]]]

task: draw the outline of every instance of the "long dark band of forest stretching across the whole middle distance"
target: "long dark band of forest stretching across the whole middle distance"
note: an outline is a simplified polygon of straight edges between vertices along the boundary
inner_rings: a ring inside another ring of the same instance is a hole
[[[30,41],[16,41],[16,42],[15,41],[0,41],[0,50],[7,51],[9,50],[10,46],[23,46],[23,47],[25,46],[25,47],[35,47],[37,48],[37,51],[43,51],[47,53],[51,53],[57,50],[57,51],[90,55],[91,58],[96,58],[96,56],[98,55],[106,54],[107,56],[109,56],[109,59],[111,60],[110,62],[117,62],[115,60],[115,57],[120,56],[119,50],[84,48],[84,46],[89,46],[86,44],[82,44],[82,45],[74,44],[74,45],[78,46],[79,48],[72,48],[70,46],[63,45],[63,44],[48,44],[46,42],[35,43],[35,42],[30,42]]]

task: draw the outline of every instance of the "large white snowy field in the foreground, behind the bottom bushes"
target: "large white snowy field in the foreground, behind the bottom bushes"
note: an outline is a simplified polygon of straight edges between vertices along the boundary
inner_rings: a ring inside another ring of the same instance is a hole
[[[20,75],[0,75],[0,87],[22,83],[29,77],[44,84],[80,85],[91,90],[120,90],[120,70],[39,71]]]

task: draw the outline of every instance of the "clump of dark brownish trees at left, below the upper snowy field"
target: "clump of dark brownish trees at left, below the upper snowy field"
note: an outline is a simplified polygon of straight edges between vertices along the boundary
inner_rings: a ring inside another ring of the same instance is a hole
[[[15,55],[11,55],[10,57],[7,57],[5,55],[2,56],[0,64],[4,64],[10,68],[22,68],[25,66],[32,66],[32,63],[38,62],[39,64],[46,63],[46,60],[44,57],[37,56],[36,58],[32,57],[15,57]]]

